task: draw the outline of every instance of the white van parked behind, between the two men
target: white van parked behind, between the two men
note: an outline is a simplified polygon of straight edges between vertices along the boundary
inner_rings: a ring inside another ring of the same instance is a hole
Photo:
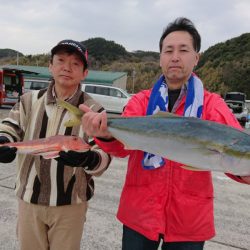
[[[124,89],[114,86],[82,84],[82,90],[100,103],[109,113],[122,113],[131,97]]]

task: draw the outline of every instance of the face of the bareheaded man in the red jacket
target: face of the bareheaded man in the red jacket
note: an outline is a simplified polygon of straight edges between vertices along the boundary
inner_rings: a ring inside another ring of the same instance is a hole
[[[170,89],[181,88],[186,83],[199,54],[194,50],[192,36],[186,31],[168,34],[162,43],[160,66]]]

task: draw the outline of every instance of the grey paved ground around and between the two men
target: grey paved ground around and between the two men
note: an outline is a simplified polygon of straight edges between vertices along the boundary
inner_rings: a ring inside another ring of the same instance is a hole
[[[8,109],[0,108],[0,120]],[[114,158],[110,168],[95,178],[95,196],[89,202],[81,241],[82,250],[121,249],[122,225],[116,219],[127,159]],[[17,250],[17,201],[14,195],[15,161],[0,163],[0,250]],[[250,250],[250,186],[222,173],[213,173],[216,236],[205,250]]]

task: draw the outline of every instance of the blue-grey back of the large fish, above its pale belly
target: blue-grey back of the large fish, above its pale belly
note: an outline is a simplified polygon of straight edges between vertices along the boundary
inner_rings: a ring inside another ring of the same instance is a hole
[[[250,152],[250,135],[232,127],[192,117],[109,118],[108,126],[148,136],[183,137],[215,144],[239,146]]]

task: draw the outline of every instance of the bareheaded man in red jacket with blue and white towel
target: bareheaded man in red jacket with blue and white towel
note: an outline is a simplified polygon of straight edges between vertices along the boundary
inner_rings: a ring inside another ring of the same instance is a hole
[[[199,61],[200,35],[187,18],[170,23],[160,38],[163,75],[150,90],[134,95],[123,116],[145,116],[159,110],[241,129],[223,99],[206,91],[193,68]],[[123,250],[201,250],[215,235],[211,172],[189,171],[179,163],[139,150],[128,151],[107,130],[105,113],[87,112],[83,130],[102,149],[129,156],[117,218],[123,223]],[[171,145],[170,145],[171,147]],[[247,183],[249,177],[230,175]],[[245,178],[245,179],[244,179]]]

